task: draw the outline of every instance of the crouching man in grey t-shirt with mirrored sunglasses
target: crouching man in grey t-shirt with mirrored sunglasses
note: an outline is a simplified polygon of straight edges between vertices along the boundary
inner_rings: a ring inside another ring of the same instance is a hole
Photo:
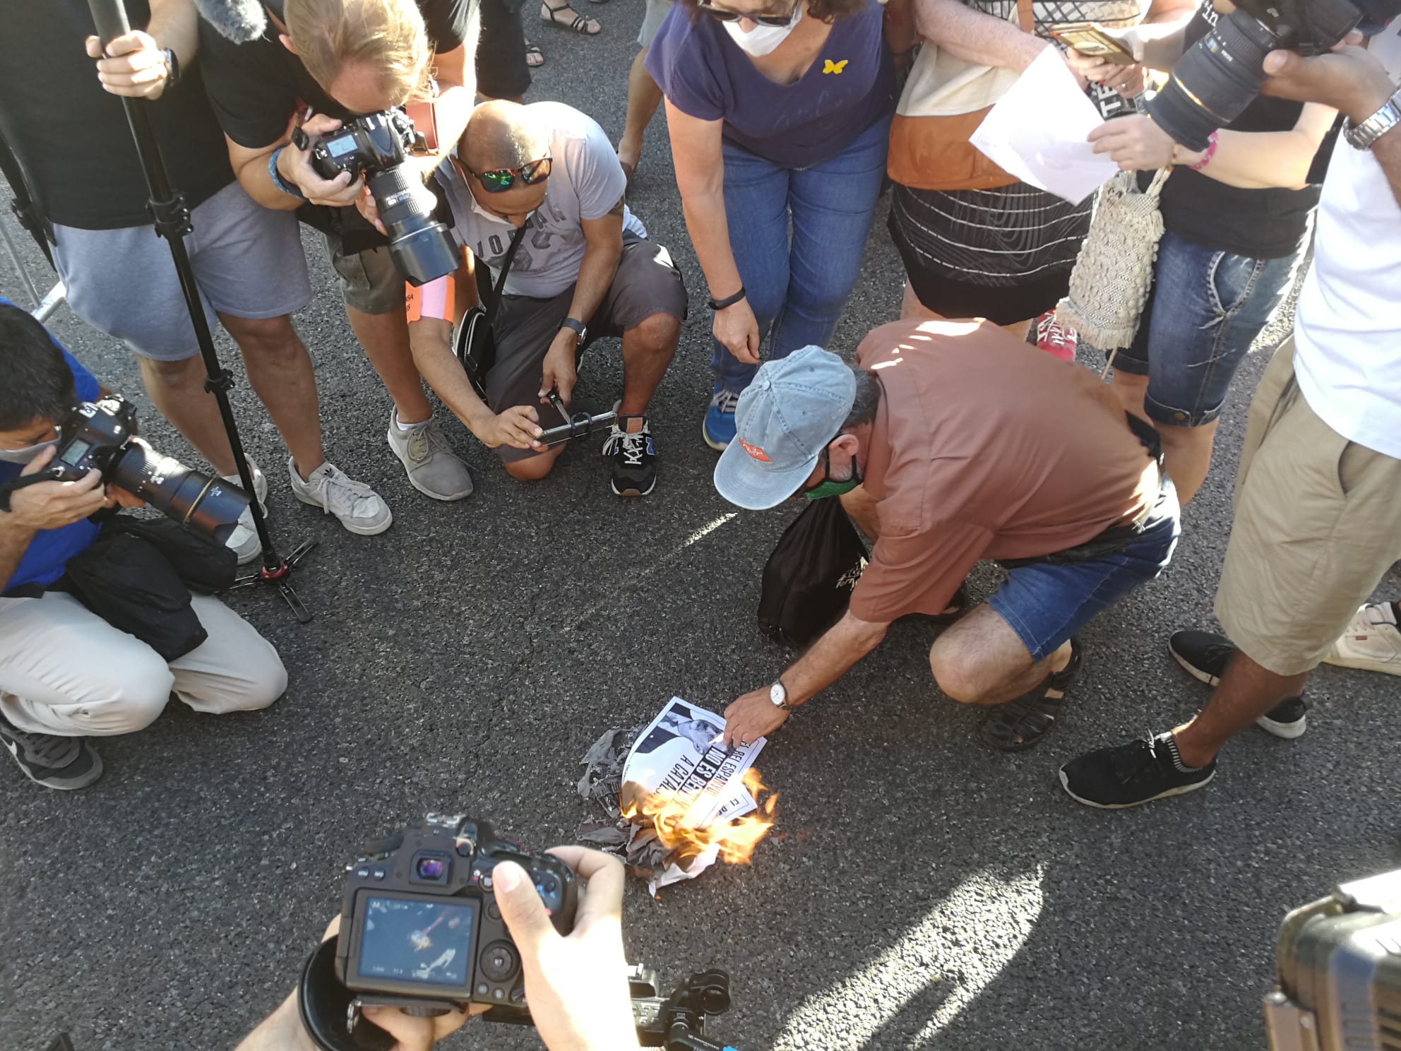
[[[657,479],[647,402],[677,350],[686,290],[671,255],[623,205],[628,178],[604,130],[560,102],[486,102],[437,178],[458,242],[471,262],[504,269],[504,284],[483,317],[495,362],[474,378],[485,404],[450,349],[453,321],[476,300],[472,270],[410,290],[423,377],[513,478],[534,481],[565,448],[537,441],[542,419],[560,423],[538,406],[551,394],[567,404],[579,355],[598,336],[622,336],[622,399],[602,451],[614,493],[646,496]]]

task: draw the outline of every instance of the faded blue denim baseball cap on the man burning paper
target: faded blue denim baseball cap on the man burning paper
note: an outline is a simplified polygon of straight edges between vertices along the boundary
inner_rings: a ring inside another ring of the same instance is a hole
[[[762,511],[796,493],[856,401],[856,377],[820,346],[765,362],[734,409],[734,441],[715,465],[730,503]]]

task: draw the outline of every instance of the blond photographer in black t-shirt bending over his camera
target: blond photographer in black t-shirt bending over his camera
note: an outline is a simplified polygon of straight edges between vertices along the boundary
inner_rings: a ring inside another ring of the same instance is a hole
[[[446,156],[472,112],[476,6],[471,0],[268,0],[263,6],[268,28],[247,43],[233,43],[200,22],[205,85],[234,172],[254,200],[297,210],[298,219],[325,234],[350,328],[394,401],[389,448],[415,489],[436,500],[461,500],[472,492],[472,475],[433,422],[409,350],[403,279],[384,235],[356,209],[364,184],[345,172],[322,179],[310,150],[291,144],[291,130],[300,125],[315,143],[357,115],[432,99]],[[441,156],[412,163],[427,178]],[[297,499],[325,507],[352,531],[373,496],[346,479],[304,478],[294,468],[290,481]],[[388,509],[382,511],[388,516]]]

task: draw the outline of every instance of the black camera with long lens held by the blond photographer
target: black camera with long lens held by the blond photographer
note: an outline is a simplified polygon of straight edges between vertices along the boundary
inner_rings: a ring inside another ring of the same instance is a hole
[[[298,128],[293,140],[310,146]],[[457,269],[458,252],[447,227],[433,217],[437,198],[408,158],[427,153],[425,137],[403,109],[385,109],[349,121],[311,146],[311,167],[324,179],[343,171],[364,178],[389,237],[389,256],[413,286]]]

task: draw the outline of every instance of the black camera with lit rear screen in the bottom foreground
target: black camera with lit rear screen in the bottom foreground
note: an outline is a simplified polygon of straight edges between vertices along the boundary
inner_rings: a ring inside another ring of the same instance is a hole
[[[325,1051],[388,1051],[394,1040],[360,1017],[366,1005],[427,1016],[482,1003],[488,1022],[531,1024],[520,952],[492,890],[504,860],[530,874],[555,929],[573,930],[573,869],[499,838],[486,821],[430,813],[417,828],[370,844],[346,867],[339,933],[301,973],[297,1008],[312,1040]],[[708,1015],[730,1008],[724,971],[692,974],[667,998],[647,968],[626,978],[640,1045],[722,1051],[700,1033]]]

